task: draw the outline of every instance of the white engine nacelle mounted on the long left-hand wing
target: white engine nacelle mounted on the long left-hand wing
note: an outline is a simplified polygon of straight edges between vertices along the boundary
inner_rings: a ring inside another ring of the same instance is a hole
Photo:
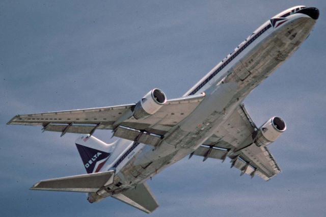
[[[135,119],[147,118],[154,115],[165,103],[167,97],[159,89],[149,91],[134,107],[133,117]]]

